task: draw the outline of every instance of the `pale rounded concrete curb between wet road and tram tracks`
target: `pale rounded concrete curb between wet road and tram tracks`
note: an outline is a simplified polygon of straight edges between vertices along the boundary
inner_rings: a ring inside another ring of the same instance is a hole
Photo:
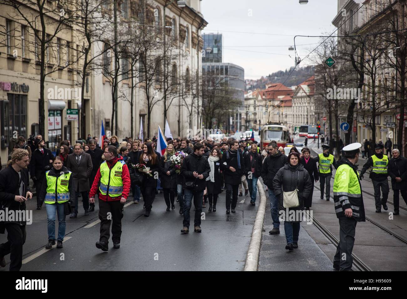
[[[246,264],[243,271],[257,271],[260,255],[260,244],[263,236],[263,223],[267,202],[267,196],[260,180],[257,181],[257,191],[260,194],[260,205],[257,210],[256,220],[254,221],[252,238],[250,238],[249,249],[247,250],[246,255]]]

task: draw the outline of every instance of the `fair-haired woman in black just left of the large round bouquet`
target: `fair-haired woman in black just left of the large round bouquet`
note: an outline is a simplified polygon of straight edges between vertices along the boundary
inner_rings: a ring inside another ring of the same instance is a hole
[[[171,156],[174,155],[174,146],[172,144],[167,145],[167,149],[161,157],[161,168],[162,172],[160,174],[161,187],[164,190],[164,200],[167,205],[167,211],[175,209],[174,198],[175,189],[177,188],[177,174],[175,168],[172,166]]]

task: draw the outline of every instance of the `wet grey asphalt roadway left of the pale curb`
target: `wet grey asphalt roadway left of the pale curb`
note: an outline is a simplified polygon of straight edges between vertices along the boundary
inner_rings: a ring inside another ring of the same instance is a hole
[[[95,212],[84,216],[80,207],[78,218],[66,217],[66,240],[63,249],[46,250],[48,242],[47,216],[35,210],[34,200],[28,201],[27,210],[33,210],[33,223],[27,225],[27,240],[23,247],[21,271],[241,271],[257,212],[257,205],[249,204],[249,196],[239,196],[236,214],[225,214],[225,192],[218,199],[217,212],[203,208],[201,233],[193,231],[193,207],[189,234],[181,234],[183,216],[179,204],[167,212],[162,194],[157,194],[150,217],[143,216],[143,204],[131,203],[129,197],[122,219],[120,249],[103,252],[95,247],[99,238],[98,205]],[[244,201],[241,203],[241,201]],[[259,201],[259,198],[258,198]],[[94,224],[92,226],[92,224]],[[56,226],[57,226],[56,221]],[[0,235],[0,242],[7,234]],[[9,263],[10,255],[6,262]],[[0,271],[8,271],[0,268]]]

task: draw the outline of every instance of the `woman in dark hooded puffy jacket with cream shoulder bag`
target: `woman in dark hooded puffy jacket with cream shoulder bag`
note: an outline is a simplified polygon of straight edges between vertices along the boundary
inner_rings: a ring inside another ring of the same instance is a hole
[[[290,153],[288,163],[278,170],[273,179],[274,194],[278,197],[278,210],[283,211],[284,231],[287,245],[285,249],[298,248],[300,222],[304,210],[304,200],[311,192],[312,183],[308,171],[299,163],[300,155]],[[293,211],[290,213],[290,211]]]

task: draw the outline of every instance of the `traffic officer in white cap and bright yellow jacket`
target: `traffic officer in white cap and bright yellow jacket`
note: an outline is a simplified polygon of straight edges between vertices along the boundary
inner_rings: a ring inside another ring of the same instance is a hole
[[[333,268],[339,271],[352,271],[352,250],[356,223],[365,221],[362,186],[357,166],[359,142],[345,146],[344,157],[337,162],[333,183],[335,213],[339,219],[339,244],[333,260]]]

